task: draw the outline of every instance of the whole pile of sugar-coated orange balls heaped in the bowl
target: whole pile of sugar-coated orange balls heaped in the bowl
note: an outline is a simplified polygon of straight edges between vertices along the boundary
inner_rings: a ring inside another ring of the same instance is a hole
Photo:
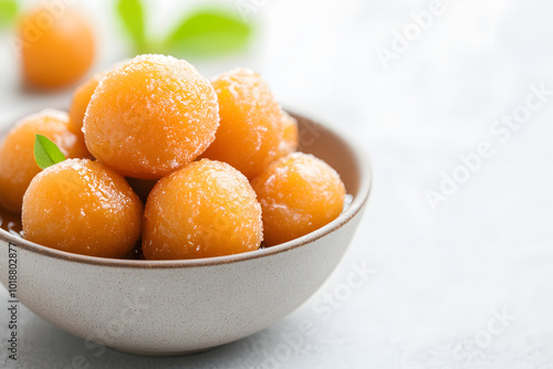
[[[34,135],[67,157],[44,170]],[[70,114],[19,123],[0,147],[0,207],[39,244],[103,257],[237,254],[307,234],[345,188],[296,152],[298,123],[248,70],[211,82],[184,60],[140,55],[92,77]],[[139,246],[139,247],[137,247]]]

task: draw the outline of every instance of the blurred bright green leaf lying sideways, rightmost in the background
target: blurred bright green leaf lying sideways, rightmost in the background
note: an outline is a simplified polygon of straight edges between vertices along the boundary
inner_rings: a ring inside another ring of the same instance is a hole
[[[197,10],[175,29],[166,49],[176,56],[211,56],[239,51],[248,44],[252,25],[225,10]]]

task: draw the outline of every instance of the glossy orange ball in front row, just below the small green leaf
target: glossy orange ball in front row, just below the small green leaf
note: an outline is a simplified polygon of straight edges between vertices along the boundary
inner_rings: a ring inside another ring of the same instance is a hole
[[[23,199],[27,240],[72,253],[123,257],[140,238],[143,204],[125,178],[69,159],[40,172]]]

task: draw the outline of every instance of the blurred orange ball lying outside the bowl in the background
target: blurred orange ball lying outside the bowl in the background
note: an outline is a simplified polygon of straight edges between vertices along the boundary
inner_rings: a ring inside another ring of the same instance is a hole
[[[39,7],[24,13],[18,33],[23,76],[34,87],[71,85],[94,60],[92,25],[70,7]]]

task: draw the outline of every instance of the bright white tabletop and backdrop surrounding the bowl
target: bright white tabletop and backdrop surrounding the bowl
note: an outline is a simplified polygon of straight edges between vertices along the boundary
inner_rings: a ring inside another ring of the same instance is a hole
[[[154,24],[185,7],[161,3]],[[429,1],[252,3],[261,24],[254,50],[198,66],[208,76],[238,65],[255,68],[283,105],[365,145],[375,184],[343,262],[280,323],[194,356],[143,358],[107,349],[95,357],[82,339],[22,308],[17,367],[66,369],[82,355],[92,368],[106,369],[553,368],[553,96],[504,141],[490,133],[495,119],[524,105],[531,85],[553,89],[553,3],[446,0],[387,70],[376,50],[389,49],[394,30],[403,31]],[[85,7],[101,21],[109,3]],[[106,41],[113,24],[104,21]],[[0,38],[0,124],[66,106],[66,93],[41,96],[19,87],[17,60]],[[98,67],[124,55],[121,40],[111,39]],[[434,210],[427,190],[438,191],[441,173],[451,176],[459,156],[482,141],[493,155]],[[363,264],[374,270],[371,278],[341,295],[347,275]],[[325,296],[343,301],[331,305]],[[7,299],[0,287],[0,333]],[[291,341],[305,320],[314,323],[314,334]]]

